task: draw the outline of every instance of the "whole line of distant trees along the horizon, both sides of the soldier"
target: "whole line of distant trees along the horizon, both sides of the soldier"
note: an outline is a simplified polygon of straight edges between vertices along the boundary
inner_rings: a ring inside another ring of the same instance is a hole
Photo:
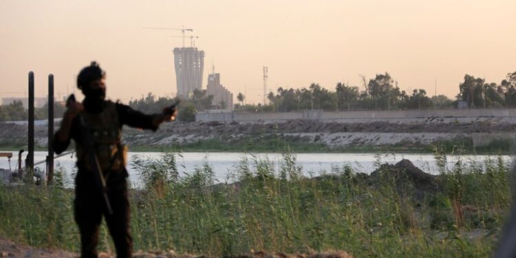
[[[427,95],[424,89],[405,92],[398,87],[396,80],[389,73],[376,74],[369,81],[363,77],[363,86],[336,83],[333,90],[326,89],[318,83],[301,89],[279,87],[277,92],[270,92],[266,105],[244,104],[246,96],[237,94],[239,103],[235,111],[295,111],[303,109],[323,110],[396,110],[396,109],[431,109],[457,108],[458,105],[469,108],[516,107],[516,72],[508,73],[501,83],[486,83],[484,78],[475,78],[469,74],[459,84],[459,94],[455,99],[444,95]],[[130,100],[129,106],[144,113],[160,112],[163,107],[178,100],[176,97],[156,97],[151,92],[136,100]],[[206,109],[224,109],[224,103],[213,103],[213,96],[204,89],[195,89],[191,96],[181,100],[178,120],[194,121],[197,111]],[[34,109],[36,120],[47,118],[48,107]],[[54,117],[61,118],[65,107],[55,103]],[[0,106],[0,121],[27,120],[28,112],[21,102]]]

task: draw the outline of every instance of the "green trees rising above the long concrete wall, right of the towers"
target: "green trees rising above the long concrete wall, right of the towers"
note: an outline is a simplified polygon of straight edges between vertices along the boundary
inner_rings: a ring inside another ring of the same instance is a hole
[[[501,83],[486,83],[483,78],[469,74],[459,85],[455,99],[444,95],[428,96],[424,89],[405,92],[398,87],[389,73],[376,74],[367,83],[363,77],[363,87],[337,83],[334,90],[312,83],[308,88],[287,89],[279,87],[270,92],[270,103],[244,105],[246,96],[239,93],[235,105],[237,111],[295,111],[303,109],[323,110],[394,110],[394,109],[431,109],[457,108],[460,103],[469,108],[515,107],[516,72],[507,74]]]

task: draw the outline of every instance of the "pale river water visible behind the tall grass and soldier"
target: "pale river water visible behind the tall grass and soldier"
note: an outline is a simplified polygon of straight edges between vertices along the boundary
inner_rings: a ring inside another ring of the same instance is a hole
[[[0,151],[1,152],[1,151]],[[10,166],[15,169],[17,166],[17,153],[12,152],[13,157],[10,161]],[[24,153],[26,154],[26,153]],[[128,165],[127,170],[129,171],[129,178],[131,184],[135,187],[141,186],[140,175],[136,169],[131,166],[132,161],[136,156],[144,159],[159,160],[162,153],[160,152],[129,152],[128,153]],[[34,162],[45,160],[47,152],[36,151],[34,152]],[[427,173],[436,174],[438,173],[438,167],[436,160],[431,154],[414,154],[414,153],[396,153],[396,154],[373,154],[373,153],[297,153],[294,154],[297,159],[297,164],[301,165],[302,171],[305,175],[316,176],[323,173],[331,173],[332,168],[335,166],[343,167],[345,165],[352,166],[354,171],[371,173],[374,171],[376,166],[380,163],[391,163],[394,164],[402,159],[408,159],[413,162],[414,165],[418,166],[422,171]],[[23,159],[25,155],[23,155]],[[487,158],[497,158],[497,156],[488,155],[462,155],[460,157],[455,155],[448,155],[448,166],[451,168],[458,159],[461,158],[464,163],[471,164],[477,162],[482,164]],[[505,162],[510,162],[510,156],[502,156]],[[243,161],[247,160],[249,167],[254,167],[255,159],[268,159],[275,171],[278,172],[281,164],[283,164],[283,155],[281,153],[202,153],[202,152],[188,152],[176,155],[176,162],[178,164],[178,170],[181,175],[192,173],[196,167],[202,166],[207,162],[213,171],[215,172],[215,178],[218,182],[230,182],[232,179],[230,175],[235,171],[235,168]],[[76,157],[75,155],[65,155],[55,160],[56,167],[63,167],[66,171],[65,182],[67,186],[73,185],[73,173],[75,167]],[[39,167],[45,170],[45,164],[40,164]],[[0,168],[8,169],[9,162],[7,158],[0,160]]]

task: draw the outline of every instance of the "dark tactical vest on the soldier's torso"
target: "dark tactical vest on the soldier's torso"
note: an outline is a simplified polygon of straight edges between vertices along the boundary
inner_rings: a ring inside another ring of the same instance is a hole
[[[106,106],[98,114],[82,112],[83,122],[87,127],[93,147],[103,172],[120,171],[125,166],[127,149],[122,146],[122,133],[118,123],[118,113],[115,103],[106,102]],[[89,160],[83,142],[76,143],[78,164],[83,164],[92,171],[94,161]]]

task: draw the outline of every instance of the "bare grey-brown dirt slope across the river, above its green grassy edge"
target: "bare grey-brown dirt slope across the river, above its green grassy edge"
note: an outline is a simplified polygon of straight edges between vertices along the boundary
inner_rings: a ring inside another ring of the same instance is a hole
[[[471,138],[475,144],[493,139],[515,138],[516,124],[497,118],[472,122],[440,122],[439,119],[418,123],[400,122],[321,122],[292,120],[273,123],[173,122],[156,132],[125,129],[127,144],[141,147],[166,147],[191,144],[199,140],[218,139],[235,142],[257,138],[288,138],[328,147],[350,145],[431,144],[438,140]],[[56,127],[56,129],[58,129]],[[47,127],[34,129],[36,146],[46,147]],[[25,146],[26,125],[0,123],[0,146]]]

